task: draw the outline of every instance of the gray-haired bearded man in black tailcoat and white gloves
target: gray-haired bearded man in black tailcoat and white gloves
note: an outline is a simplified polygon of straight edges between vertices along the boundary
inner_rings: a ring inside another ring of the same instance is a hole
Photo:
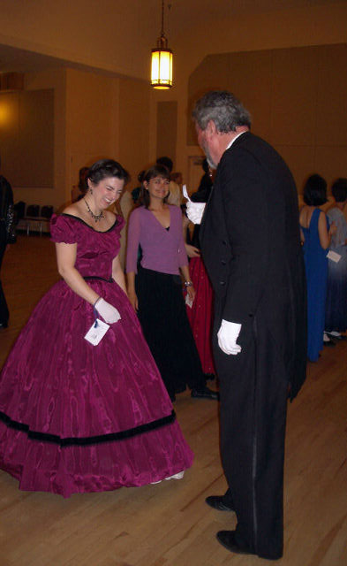
[[[235,511],[217,533],[231,552],[283,555],[283,456],[287,399],[306,377],[306,282],[298,197],[283,158],[250,132],[229,92],[210,92],[193,118],[216,168],[200,245],[215,290],[214,354],[221,393],[221,454],[229,489],[207,497]],[[188,203],[199,223],[203,204]]]

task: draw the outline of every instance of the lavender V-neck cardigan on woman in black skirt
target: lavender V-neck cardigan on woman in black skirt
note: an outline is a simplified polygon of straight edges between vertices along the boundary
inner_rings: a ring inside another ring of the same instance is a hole
[[[177,275],[179,268],[188,265],[183,239],[182,212],[169,205],[170,230],[165,230],[155,215],[144,206],[132,210],[128,224],[126,272],[137,273],[139,244],[141,265],[155,272]]]

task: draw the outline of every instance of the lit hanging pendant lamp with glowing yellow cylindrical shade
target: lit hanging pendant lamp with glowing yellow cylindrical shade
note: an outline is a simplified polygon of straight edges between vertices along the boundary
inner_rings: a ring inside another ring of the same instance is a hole
[[[172,51],[164,34],[164,0],[162,0],[162,33],[152,50],[151,85],[153,88],[172,87]]]

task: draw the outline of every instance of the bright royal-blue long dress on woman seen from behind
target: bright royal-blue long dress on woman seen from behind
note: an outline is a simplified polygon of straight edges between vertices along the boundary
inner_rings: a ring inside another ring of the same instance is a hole
[[[308,228],[301,226],[305,236],[304,260],[307,282],[307,357],[316,362],[323,349],[325,303],[327,298],[327,249],[321,247],[318,218],[321,210],[313,210]],[[328,222],[327,222],[328,226]]]

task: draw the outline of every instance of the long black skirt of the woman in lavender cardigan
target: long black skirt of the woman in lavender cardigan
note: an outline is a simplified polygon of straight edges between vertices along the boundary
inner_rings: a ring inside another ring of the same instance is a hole
[[[185,386],[201,388],[205,377],[185,312],[179,275],[139,267],[139,318],[148,346],[171,397]]]

